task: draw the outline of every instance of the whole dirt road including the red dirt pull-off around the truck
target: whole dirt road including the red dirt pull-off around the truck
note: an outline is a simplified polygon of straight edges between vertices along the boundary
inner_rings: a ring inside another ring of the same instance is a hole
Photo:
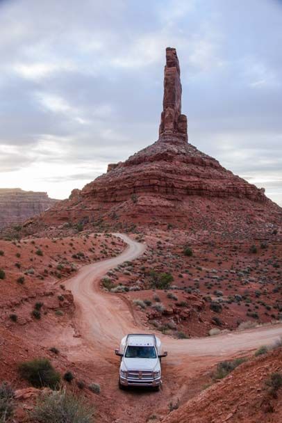
[[[83,365],[90,377],[94,375],[95,381],[101,384],[103,396],[99,397],[97,422],[144,423],[156,412],[167,414],[171,401],[182,403],[201,392],[207,382],[206,370],[216,362],[270,344],[282,335],[282,325],[191,340],[159,335],[169,353],[163,360],[161,392],[120,391],[117,386],[119,359],[113,349],[126,333],[148,333],[151,328],[136,320],[138,317],[125,298],[100,288],[101,278],[110,269],[126,260],[134,260],[146,249],[146,245],[124,234],[117,235],[128,244],[121,255],[84,266],[74,278],[65,281],[74,294],[78,337],[69,330],[60,333],[65,345],[62,349],[70,360]],[[58,342],[58,334],[56,339]]]

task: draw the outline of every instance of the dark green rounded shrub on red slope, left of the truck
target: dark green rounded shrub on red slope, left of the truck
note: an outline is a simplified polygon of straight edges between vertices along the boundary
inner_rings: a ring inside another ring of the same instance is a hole
[[[18,365],[19,375],[35,386],[49,386],[49,388],[57,388],[60,382],[60,374],[51,365],[48,358],[35,358],[31,361],[25,361]]]

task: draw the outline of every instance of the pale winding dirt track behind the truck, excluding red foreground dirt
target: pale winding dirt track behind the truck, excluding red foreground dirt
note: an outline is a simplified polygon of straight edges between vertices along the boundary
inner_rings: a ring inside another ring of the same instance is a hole
[[[67,280],[76,303],[76,324],[85,340],[94,349],[103,351],[118,346],[126,333],[149,332],[148,327],[135,321],[131,305],[121,296],[104,292],[99,282],[107,271],[126,260],[134,260],[144,253],[145,244],[133,241],[125,234],[115,234],[122,238],[127,248],[117,257],[83,266],[78,274]],[[175,362],[183,356],[227,356],[239,351],[256,349],[270,344],[282,335],[282,325],[262,326],[244,332],[231,332],[215,337],[191,340],[175,340],[161,335],[165,349],[169,351],[167,362]]]

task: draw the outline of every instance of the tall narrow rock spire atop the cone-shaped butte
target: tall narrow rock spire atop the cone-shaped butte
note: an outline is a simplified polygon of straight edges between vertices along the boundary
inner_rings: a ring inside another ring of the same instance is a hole
[[[176,49],[167,47],[159,141],[188,141],[187,117],[181,114],[181,94],[179,58]]]

